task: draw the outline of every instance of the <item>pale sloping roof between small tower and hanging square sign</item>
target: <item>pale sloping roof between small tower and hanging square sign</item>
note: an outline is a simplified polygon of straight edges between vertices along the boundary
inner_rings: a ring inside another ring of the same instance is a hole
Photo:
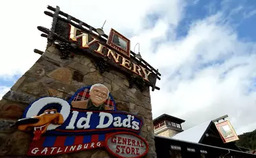
[[[173,139],[179,139],[181,141],[189,141],[192,143],[200,143],[200,140],[203,138],[205,131],[211,126],[212,121],[196,125],[190,129],[184,130],[173,136]]]

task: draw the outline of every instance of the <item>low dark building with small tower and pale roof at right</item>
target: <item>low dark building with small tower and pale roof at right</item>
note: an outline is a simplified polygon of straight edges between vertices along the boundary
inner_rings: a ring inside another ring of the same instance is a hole
[[[250,153],[250,149],[237,146],[235,141],[223,143],[213,121],[187,130],[182,130],[181,125],[180,129],[172,127],[172,122],[181,124],[185,120],[165,114],[154,120],[156,152],[159,158],[256,157]]]

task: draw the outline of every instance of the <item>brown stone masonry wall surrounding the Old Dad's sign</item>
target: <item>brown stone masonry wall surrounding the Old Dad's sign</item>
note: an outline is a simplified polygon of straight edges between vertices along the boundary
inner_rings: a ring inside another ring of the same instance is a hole
[[[120,72],[110,70],[100,74],[92,59],[75,56],[63,60],[58,53],[54,45],[49,47],[0,100],[0,157],[28,157],[26,152],[31,143],[31,134],[10,125],[22,116],[31,102],[45,96],[68,99],[79,88],[95,83],[109,88],[117,110],[138,113],[143,119],[141,136],[147,139],[149,145],[146,157],[156,157],[149,88],[141,93],[136,87],[129,88],[127,78]],[[111,155],[104,149],[95,149],[52,157],[101,158]]]

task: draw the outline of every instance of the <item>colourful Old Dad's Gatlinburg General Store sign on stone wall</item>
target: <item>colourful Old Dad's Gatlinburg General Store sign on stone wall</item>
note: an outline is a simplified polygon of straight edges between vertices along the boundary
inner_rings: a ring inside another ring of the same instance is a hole
[[[19,130],[33,131],[28,155],[57,155],[105,146],[118,157],[141,157],[148,150],[147,142],[138,136],[142,123],[137,116],[116,111],[108,88],[93,84],[77,90],[68,101],[56,97],[36,100],[16,125]]]

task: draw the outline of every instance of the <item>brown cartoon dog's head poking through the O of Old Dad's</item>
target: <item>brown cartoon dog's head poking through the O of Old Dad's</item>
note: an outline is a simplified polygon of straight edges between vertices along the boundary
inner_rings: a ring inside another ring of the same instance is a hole
[[[15,125],[19,130],[29,131],[34,130],[33,141],[40,139],[41,135],[47,130],[50,124],[61,125],[63,123],[63,116],[57,112],[56,109],[47,109],[39,116],[31,118],[22,118],[18,120]]]

